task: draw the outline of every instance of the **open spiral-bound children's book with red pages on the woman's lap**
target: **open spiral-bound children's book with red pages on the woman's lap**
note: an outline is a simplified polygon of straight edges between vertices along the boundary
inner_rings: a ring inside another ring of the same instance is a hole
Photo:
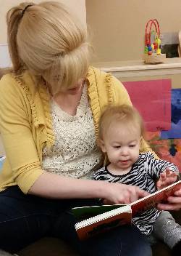
[[[72,208],[72,212],[78,221],[75,224],[77,235],[80,240],[84,240],[118,225],[131,224],[132,217],[138,212],[143,212],[156,207],[156,204],[166,202],[168,196],[172,196],[180,188],[181,180],[131,204]]]

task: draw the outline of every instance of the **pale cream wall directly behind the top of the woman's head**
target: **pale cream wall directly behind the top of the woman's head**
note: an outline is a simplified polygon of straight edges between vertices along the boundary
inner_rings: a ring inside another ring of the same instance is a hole
[[[0,0],[0,44],[6,44],[7,43],[7,25],[6,25],[6,13],[7,10],[13,7],[16,4],[20,4],[22,1],[28,1],[30,0]],[[39,3],[43,0],[34,0],[33,2]],[[85,10],[85,0],[56,0],[59,2],[62,2],[66,4],[68,7],[70,7],[77,16],[79,16],[80,20],[83,21],[84,24],[86,24],[86,10]],[[2,4],[3,2],[3,4]]]

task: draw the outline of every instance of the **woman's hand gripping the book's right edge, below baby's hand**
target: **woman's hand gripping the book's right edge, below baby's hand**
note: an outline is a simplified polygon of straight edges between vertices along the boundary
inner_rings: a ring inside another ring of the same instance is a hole
[[[172,211],[181,209],[181,188],[174,192],[174,196],[168,197],[168,204],[158,204],[157,209]]]

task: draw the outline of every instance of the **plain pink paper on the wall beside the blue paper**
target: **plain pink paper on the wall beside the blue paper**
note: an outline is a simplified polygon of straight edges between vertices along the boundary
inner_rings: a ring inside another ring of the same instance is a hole
[[[171,79],[126,81],[122,84],[132,105],[143,116],[147,131],[171,128]]]

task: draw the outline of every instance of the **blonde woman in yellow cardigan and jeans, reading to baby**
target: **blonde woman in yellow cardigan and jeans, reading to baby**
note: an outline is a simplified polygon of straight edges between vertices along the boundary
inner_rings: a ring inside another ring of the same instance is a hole
[[[96,144],[101,109],[111,102],[130,105],[125,88],[89,66],[85,28],[62,4],[20,4],[7,13],[7,25],[14,72],[0,81],[7,155],[0,176],[0,248],[17,252],[55,236],[80,255],[151,255],[134,226],[80,242],[70,211],[98,204],[95,198],[119,204],[146,195],[135,186],[90,180],[102,164]],[[172,209],[180,207],[176,199]]]

